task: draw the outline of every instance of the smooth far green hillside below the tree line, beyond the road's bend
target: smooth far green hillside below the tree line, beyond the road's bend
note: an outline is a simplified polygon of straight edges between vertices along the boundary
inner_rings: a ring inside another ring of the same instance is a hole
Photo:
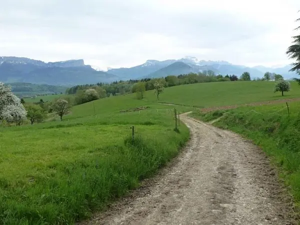
[[[272,81],[236,81],[195,83],[166,88],[160,97],[161,102],[180,105],[211,107],[244,104],[258,101],[300,97],[300,86],[291,82],[291,90],[273,92]]]

